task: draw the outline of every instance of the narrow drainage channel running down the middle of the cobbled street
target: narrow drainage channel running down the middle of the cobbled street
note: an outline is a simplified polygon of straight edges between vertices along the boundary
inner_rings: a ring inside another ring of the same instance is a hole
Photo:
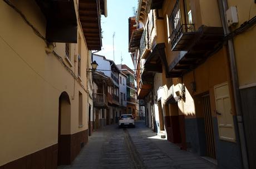
[[[125,135],[125,142],[126,146],[130,152],[131,160],[136,169],[145,169],[145,165],[143,163],[142,158],[139,155],[139,152],[137,152],[134,143],[131,140],[131,136],[129,135],[129,132],[124,128],[124,135]]]

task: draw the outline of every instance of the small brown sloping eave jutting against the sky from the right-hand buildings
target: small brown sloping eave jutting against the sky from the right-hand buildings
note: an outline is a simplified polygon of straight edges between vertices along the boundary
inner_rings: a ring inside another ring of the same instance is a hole
[[[134,52],[135,49],[140,47],[140,39],[143,33],[143,28],[136,29],[131,34],[131,39],[129,43],[129,52]]]

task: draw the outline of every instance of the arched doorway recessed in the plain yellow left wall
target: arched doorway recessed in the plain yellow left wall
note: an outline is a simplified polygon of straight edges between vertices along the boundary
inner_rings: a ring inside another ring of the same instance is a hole
[[[71,163],[71,104],[66,92],[58,99],[58,165]]]

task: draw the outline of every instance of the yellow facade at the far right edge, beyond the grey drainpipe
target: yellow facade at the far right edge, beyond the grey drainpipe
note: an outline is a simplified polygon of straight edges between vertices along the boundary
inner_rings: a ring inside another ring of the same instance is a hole
[[[235,8],[238,22],[229,27],[230,51],[234,59],[234,74],[236,74],[236,85],[238,102],[240,102],[239,122],[244,126],[245,144],[248,154],[248,168],[255,168],[256,132],[253,130],[255,124],[255,86],[256,86],[256,2],[255,1],[227,1],[226,8]],[[232,50],[233,49],[233,50]],[[245,159],[246,160],[246,159]]]

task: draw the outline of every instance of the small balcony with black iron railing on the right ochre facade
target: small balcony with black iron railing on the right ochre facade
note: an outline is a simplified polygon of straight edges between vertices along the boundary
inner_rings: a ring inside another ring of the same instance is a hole
[[[188,51],[191,39],[195,36],[194,24],[181,24],[171,32],[171,50]]]

